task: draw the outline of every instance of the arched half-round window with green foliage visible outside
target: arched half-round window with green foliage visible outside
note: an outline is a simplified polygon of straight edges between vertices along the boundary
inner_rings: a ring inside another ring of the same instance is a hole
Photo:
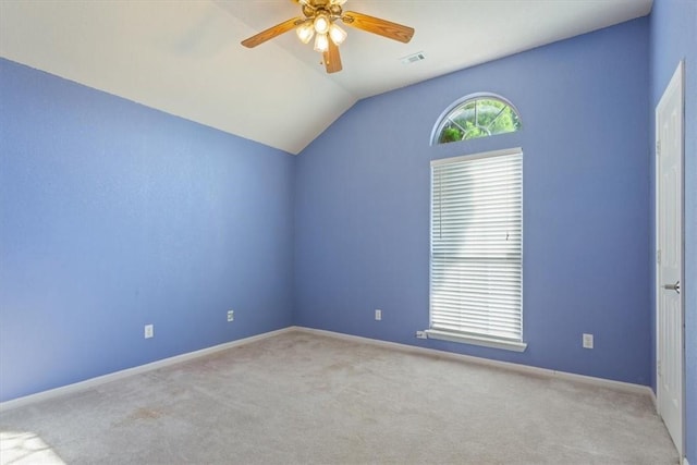
[[[493,95],[474,95],[457,100],[436,124],[431,145],[512,133],[521,118],[512,103]]]

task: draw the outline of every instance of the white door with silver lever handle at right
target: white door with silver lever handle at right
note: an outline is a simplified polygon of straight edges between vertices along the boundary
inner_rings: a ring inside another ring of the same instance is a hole
[[[683,63],[656,107],[657,400],[683,456]]]

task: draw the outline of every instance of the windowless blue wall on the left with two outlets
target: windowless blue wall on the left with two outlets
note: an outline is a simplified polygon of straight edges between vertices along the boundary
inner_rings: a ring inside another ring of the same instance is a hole
[[[5,60],[0,103],[0,401],[291,325],[293,157]]]

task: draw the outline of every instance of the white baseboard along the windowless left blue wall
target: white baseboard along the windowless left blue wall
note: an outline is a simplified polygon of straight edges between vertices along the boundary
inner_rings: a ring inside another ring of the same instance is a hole
[[[89,388],[95,388],[107,382],[115,381],[118,379],[126,378],[134,375],[144,374],[146,371],[156,370],[158,368],[167,367],[174,364],[181,364],[182,362],[191,360],[192,358],[203,357],[204,355],[212,354],[216,352],[224,351],[228,348],[236,347],[240,345],[249,344],[252,342],[260,341],[262,339],[272,338],[274,335],[282,334],[294,330],[294,327],[283,328],[276,331],[265,332],[249,338],[239,339],[236,341],[225,342],[224,344],[213,345],[212,347],[201,348],[200,351],[194,351],[186,354],[175,355],[173,357],[163,358],[161,360],[152,362],[149,364],[140,365],[133,368],[126,368],[121,371],[114,371],[109,375],[98,376],[85,381],[75,382],[73,384],[63,386],[48,391],[38,392],[36,394],[29,394],[23,397],[13,399],[11,401],[0,402],[0,412],[5,412],[12,408],[22,407],[28,404],[33,404],[48,399],[58,397],[60,395],[70,394],[77,391],[84,391]]]

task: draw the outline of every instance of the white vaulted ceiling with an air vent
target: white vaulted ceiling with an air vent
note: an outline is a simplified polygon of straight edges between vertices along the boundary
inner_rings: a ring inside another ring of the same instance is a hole
[[[416,29],[409,44],[344,27],[328,75],[291,0],[0,0],[0,57],[291,154],[358,99],[649,13],[652,0],[350,0]],[[423,51],[426,60],[402,64]],[[0,76],[1,78],[1,76]],[[1,105],[1,102],[0,102]]]

